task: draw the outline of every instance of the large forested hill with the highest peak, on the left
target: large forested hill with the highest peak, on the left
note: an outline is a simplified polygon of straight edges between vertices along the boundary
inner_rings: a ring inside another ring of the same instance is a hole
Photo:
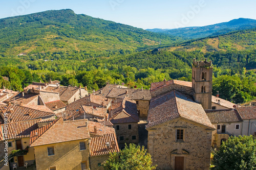
[[[80,52],[99,55],[102,51],[134,51],[146,45],[170,44],[179,37],[161,35],[113,21],[51,10],[0,19],[0,54]],[[105,53],[104,53],[105,54]]]

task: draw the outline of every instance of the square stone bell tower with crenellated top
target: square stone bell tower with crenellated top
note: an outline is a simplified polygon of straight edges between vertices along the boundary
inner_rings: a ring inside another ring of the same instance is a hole
[[[204,110],[211,109],[212,66],[211,62],[193,59],[192,88],[194,100],[201,103]]]

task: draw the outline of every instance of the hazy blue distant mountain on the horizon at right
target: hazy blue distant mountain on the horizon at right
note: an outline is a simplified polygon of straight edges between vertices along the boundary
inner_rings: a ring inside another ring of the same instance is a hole
[[[255,19],[239,18],[229,22],[217,23],[204,27],[185,27],[178,29],[146,29],[155,33],[164,33],[173,36],[182,36],[185,38],[203,38],[212,35],[221,35],[231,31],[256,28]]]

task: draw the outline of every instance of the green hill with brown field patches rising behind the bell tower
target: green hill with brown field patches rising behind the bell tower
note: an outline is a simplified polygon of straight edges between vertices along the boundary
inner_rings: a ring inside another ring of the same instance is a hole
[[[194,39],[175,46],[168,51],[226,52],[256,49],[256,29],[230,32],[219,36]]]

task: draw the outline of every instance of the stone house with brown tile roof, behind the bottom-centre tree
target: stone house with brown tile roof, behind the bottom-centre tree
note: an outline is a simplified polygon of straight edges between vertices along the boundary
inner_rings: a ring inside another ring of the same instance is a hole
[[[124,143],[139,142],[138,122],[136,102],[125,97],[109,109],[110,122],[116,130],[117,141],[119,147],[124,147]]]

